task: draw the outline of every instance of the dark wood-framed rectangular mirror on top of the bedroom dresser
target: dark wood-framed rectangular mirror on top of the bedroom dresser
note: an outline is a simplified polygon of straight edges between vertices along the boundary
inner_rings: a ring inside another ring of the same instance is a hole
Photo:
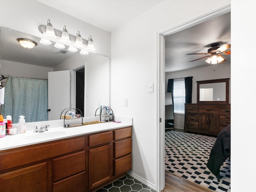
[[[229,103],[229,78],[197,81],[197,103]]]

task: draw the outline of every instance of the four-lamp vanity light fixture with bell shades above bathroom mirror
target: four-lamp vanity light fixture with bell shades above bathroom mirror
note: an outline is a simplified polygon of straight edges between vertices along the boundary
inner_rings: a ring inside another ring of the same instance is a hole
[[[46,37],[46,40],[48,41],[53,40],[56,43],[54,45],[56,48],[65,48],[65,46],[69,46],[68,50],[70,52],[77,52],[78,49],[80,49],[81,50],[80,54],[83,54],[83,55],[88,54],[89,53],[88,51],[96,50],[93,45],[92,36],[89,36],[88,40],[84,40],[82,39],[79,31],[77,31],[76,36],[72,36],[68,34],[68,30],[66,29],[66,26],[63,27],[62,31],[56,30],[53,28],[52,24],[50,23],[50,19],[47,20],[47,26],[41,25],[38,27],[38,30],[42,34],[44,34],[44,36]]]

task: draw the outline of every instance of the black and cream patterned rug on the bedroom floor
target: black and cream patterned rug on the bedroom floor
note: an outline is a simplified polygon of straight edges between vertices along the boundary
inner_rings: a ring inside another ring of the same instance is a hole
[[[216,192],[230,192],[230,160],[220,168],[220,182],[206,167],[216,138],[168,131],[165,133],[165,170]]]

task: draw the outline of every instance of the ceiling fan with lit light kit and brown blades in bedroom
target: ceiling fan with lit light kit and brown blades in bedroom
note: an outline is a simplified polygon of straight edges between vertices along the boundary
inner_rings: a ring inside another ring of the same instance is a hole
[[[231,47],[230,44],[223,44],[222,46],[220,46],[219,43],[214,43],[214,44],[211,44],[211,48],[208,49],[208,53],[188,53],[186,55],[202,55],[202,54],[208,55],[192,61],[197,61],[197,60],[208,57],[208,59],[206,59],[205,62],[209,64],[217,64],[217,63],[226,61],[226,59],[222,55],[230,55],[231,52],[226,51],[230,47]]]

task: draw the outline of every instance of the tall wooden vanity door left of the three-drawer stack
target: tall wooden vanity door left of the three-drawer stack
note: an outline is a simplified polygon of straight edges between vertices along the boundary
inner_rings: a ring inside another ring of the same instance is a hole
[[[88,188],[89,190],[107,182],[112,176],[112,144],[89,149]]]

